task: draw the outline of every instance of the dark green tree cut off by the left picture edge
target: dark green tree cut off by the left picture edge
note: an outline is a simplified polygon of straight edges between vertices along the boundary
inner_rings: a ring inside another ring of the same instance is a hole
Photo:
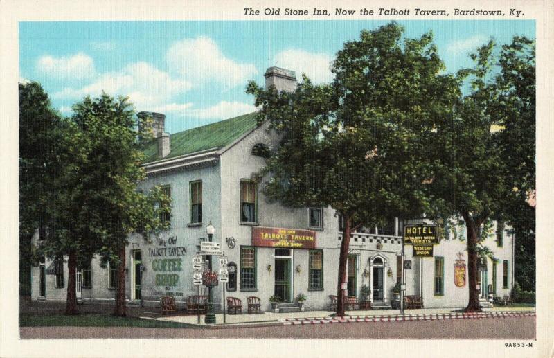
[[[30,290],[30,267],[35,265],[33,234],[44,240],[55,206],[55,178],[60,161],[62,117],[38,82],[19,84],[19,276]]]

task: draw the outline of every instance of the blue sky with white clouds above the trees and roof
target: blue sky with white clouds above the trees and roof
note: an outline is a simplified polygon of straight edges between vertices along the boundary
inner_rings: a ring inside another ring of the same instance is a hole
[[[332,80],[334,54],[362,29],[388,21],[22,22],[21,80],[37,80],[64,115],[104,90],[136,111],[166,114],[166,132],[254,110],[244,93],[269,66]],[[535,37],[535,21],[398,21],[407,37],[432,30],[447,71],[470,66],[467,53],[494,37]]]

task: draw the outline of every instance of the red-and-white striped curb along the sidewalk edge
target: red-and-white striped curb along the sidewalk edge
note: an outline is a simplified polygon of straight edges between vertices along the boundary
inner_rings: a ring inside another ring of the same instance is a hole
[[[355,323],[355,322],[391,322],[391,321],[434,321],[438,319],[488,319],[536,316],[531,311],[501,311],[501,312],[472,312],[472,313],[430,313],[430,314],[395,314],[390,316],[349,316],[341,319],[331,317],[307,317],[278,319],[283,325],[305,325],[322,323]]]

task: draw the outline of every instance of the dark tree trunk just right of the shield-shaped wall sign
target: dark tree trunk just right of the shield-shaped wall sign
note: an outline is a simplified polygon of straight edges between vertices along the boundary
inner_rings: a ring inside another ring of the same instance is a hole
[[[477,242],[479,241],[478,233],[479,226],[482,220],[474,220],[470,214],[463,215],[465,227],[467,229],[467,276],[468,285],[470,287],[470,299],[465,307],[465,312],[481,312],[479,304],[479,291],[477,290]]]

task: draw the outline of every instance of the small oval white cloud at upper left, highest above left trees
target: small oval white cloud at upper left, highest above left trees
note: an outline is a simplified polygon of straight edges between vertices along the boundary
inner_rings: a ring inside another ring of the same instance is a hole
[[[82,52],[64,57],[39,57],[37,71],[60,80],[82,80],[96,73],[92,58]]]

